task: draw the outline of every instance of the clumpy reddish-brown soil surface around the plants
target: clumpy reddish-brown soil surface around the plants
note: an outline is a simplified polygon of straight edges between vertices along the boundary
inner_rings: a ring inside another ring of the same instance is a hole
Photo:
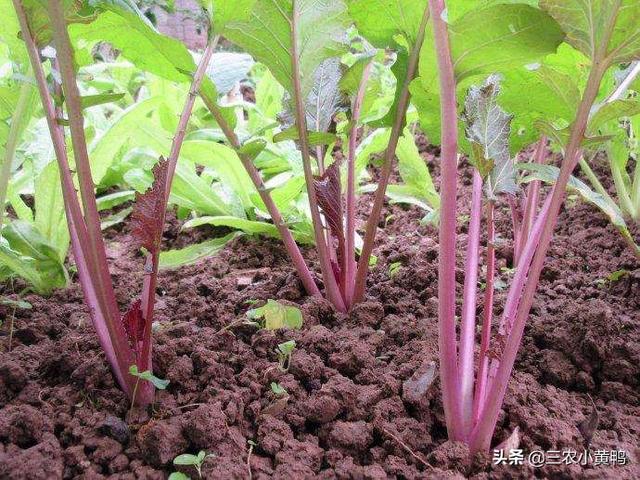
[[[421,150],[437,178],[437,152]],[[462,205],[467,171],[461,182]],[[361,199],[361,218],[368,201]],[[195,469],[172,461],[200,450],[210,454],[208,479],[640,478],[640,265],[607,220],[574,198],[563,209],[494,442],[517,427],[525,455],[583,452],[581,431],[589,429],[579,426],[593,416],[592,398],[599,421],[591,454],[624,450],[629,461],[534,468],[495,466],[489,454],[470,459],[446,439],[437,231],[420,224],[423,216],[416,207],[387,207],[367,301],[349,315],[303,293],[276,240],[240,237],[213,258],[163,272],[153,364],[171,383],[144,412],[129,412],[76,281],[50,298],[27,295],[31,310],[1,307],[0,478],[164,479],[178,470],[195,479]],[[508,283],[508,211],[499,218]],[[223,233],[178,236],[178,227],[172,220],[165,246]],[[130,251],[126,227],[108,238],[124,308],[139,293],[142,259]],[[465,244],[463,224],[459,252]],[[315,254],[305,255],[317,271]],[[461,291],[462,257],[459,265]],[[613,272],[619,278],[609,278]],[[496,316],[505,295],[498,291]],[[244,324],[246,311],[268,299],[299,306],[302,329]],[[287,340],[296,347],[283,372],[275,349]],[[276,395],[271,382],[287,394]]]

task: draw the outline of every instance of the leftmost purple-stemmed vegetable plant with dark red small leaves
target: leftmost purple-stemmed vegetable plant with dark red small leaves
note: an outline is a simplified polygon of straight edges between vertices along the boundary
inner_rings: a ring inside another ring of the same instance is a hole
[[[60,0],[48,1],[46,8],[40,4],[23,3],[21,0],[14,0],[13,5],[55,150],[64,210],[85,301],[100,345],[118,383],[132,403],[145,406],[153,398],[153,383],[145,381],[139,384],[139,376],[132,372],[144,374],[152,371],[151,325],[168,192],[196,92],[203,81],[216,39],[212,39],[200,64],[193,69],[190,95],[180,116],[167,160],[161,158],[153,168],[154,181],[151,188],[144,194],[136,195],[132,213],[132,236],[134,245],[143,247],[147,252],[145,275],[140,298],[134,300],[121,315],[101,236],[92,162],[84,130],[83,98],[78,89],[74,50],[68,30],[69,23],[78,21],[81,14],[73,10],[78,6],[74,5],[71,7],[72,11],[68,11],[69,7]],[[94,15],[99,13],[99,10],[93,12]],[[136,13],[133,7],[128,11],[130,15]],[[46,19],[44,24],[38,23],[43,19]],[[59,76],[48,76],[45,65],[41,62],[42,50],[50,45],[55,48],[55,54],[49,56],[48,63],[51,71],[58,72]],[[73,163],[66,143],[65,125],[68,125],[70,132]]]

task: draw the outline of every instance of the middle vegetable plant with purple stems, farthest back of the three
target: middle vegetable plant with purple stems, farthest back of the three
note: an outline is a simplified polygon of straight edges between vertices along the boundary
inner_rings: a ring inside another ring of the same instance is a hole
[[[240,5],[216,1],[213,23],[217,31],[265,64],[287,94],[285,125],[276,141],[296,141],[302,156],[313,235],[322,274],[325,295],[340,311],[346,311],[363,299],[369,260],[373,250],[378,219],[393,168],[393,159],[406,124],[409,84],[415,77],[420,48],[429,12],[425,2],[414,2],[403,21],[394,18],[383,27],[370,21],[375,5],[362,1],[318,4],[307,0],[271,2],[244,0]],[[373,2],[375,3],[375,2]],[[376,48],[396,50],[394,74],[396,95],[389,114],[382,119],[391,127],[385,148],[382,175],[365,229],[359,259],[356,259],[356,165],[355,151],[360,113],[370,76],[372,59],[364,56],[350,69],[356,81],[340,79],[339,56],[347,52],[350,15],[362,34]],[[263,28],[263,26],[268,28]],[[398,43],[396,43],[396,41]],[[274,52],[269,45],[278,45]],[[325,162],[325,148],[335,135],[328,132],[332,117],[340,106],[340,88],[351,100],[350,128],[346,160],[346,188],[343,193],[341,165]],[[230,145],[256,185],[285,248],[310,294],[319,294],[308,265],[283,222],[252,158],[264,143],[260,139],[241,141],[224,119],[217,104],[205,100]]]

